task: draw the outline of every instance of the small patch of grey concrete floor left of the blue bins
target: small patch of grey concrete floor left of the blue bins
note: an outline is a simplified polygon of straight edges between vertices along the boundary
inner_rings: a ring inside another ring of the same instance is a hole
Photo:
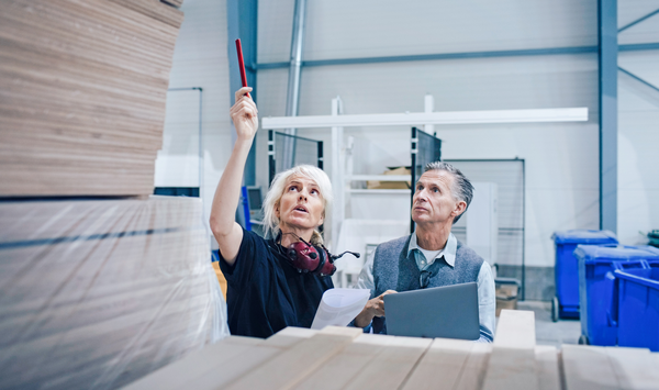
[[[536,344],[560,347],[562,344],[579,343],[581,322],[579,320],[552,322],[551,302],[521,301],[517,302],[517,310],[535,312]]]

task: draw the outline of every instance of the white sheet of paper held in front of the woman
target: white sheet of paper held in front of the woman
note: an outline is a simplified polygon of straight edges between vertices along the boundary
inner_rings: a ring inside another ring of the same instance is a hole
[[[322,330],[330,325],[346,326],[361,312],[369,298],[369,289],[330,289],[325,291],[311,328]]]

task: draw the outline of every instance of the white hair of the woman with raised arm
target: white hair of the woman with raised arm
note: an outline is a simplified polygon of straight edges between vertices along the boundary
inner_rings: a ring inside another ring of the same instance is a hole
[[[279,205],[279,201],[281,200],[283,191],[286,190],[286,185],[292,176],[306,176],[315,181],[315,183],[319,186],[319,190],[323,197],[323,218],[325,218],[325,213],[332,205],[332,200],[334,198],[332,192],[332,182],[330,181],[327,174],[325,174],[322,169],[312,165],[299,165],[289,170],[279,172],[277,176],[275,176],[275,179],[270,185],[270,189],[266,194],[266,199],[264,200],[264,233],[266,237],[277,237],[277,235],[279,235],[280,221],[275,214],[275,208]],[[323,244],[323,237],[319,231],[313,231],[311,243],[313,245]]]

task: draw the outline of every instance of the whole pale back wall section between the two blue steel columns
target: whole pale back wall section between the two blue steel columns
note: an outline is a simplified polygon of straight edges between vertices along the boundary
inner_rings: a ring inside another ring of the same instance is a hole
[[[267,35],[270,44],[259,41],[259,63],[289,56],[290,27],[279,23],[291,22],[282,10],[292,10],[292,1],[277,4],[259,2],[259,36]],[[309,4],[304,59],[596,44],[596,1]],[[265,11],[272,19],[263,21]],[[286,69],[259,71],[261,115],[284,113],[286,81]],[[585,123],[435,126],[435,131],[445,141],[445,158],[526,159],[527,265],[554,266],[554,231],[597,227],[595,54],[304,68],[300,114],[328,114],[337,94],[346,113],[423,111],[425,93],[435,97],[436,111],[588,107],[591,120]],[[407,127],[346,129],[346,135],[357,138],[355,171],[379,174],[386,166],[409,164],[409,133]],[[323,131],[300,135],[330,141]],[[261,141],[259,155],[265,154]],[[327,159],[325,164],[332,166]],[[258,177],[264,175],[265,167]]]

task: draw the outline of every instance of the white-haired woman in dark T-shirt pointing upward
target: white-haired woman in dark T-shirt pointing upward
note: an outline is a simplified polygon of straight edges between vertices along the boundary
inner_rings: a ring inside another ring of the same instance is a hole
[[[211,230],[220,244],[220,268],[228,290],[228,327],[234,335],[269,337],[286,326],[310,327],[321,297],[333,288],[328,276],[300,272],[289,246],[304,241],[322,245],[316,229],[332,201],[330,178],[321,169],[298,166],[277,175],[264,201],[264,239],[235,222],[243,169],[258,127],[258,110],[236,92],[231,118],[237,140],[220,179],[211,210]]]

